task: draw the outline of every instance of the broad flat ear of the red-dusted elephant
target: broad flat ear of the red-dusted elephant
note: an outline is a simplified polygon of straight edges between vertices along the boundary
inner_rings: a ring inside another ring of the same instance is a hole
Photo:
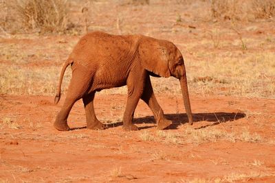
[[[142,38],[138,48],[140,62],[147,71],[162,77],[169,77],[167,49],[159,43],[159,40],[153,38]]]

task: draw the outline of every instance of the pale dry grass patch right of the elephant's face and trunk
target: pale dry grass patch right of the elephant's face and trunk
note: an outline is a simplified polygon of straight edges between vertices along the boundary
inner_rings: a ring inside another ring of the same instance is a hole
[[[202,95],[223,93],[245,97],[275,97],[275,82],[272,79],[275,73],[274,53],[254,53],[243,59],[232,55],[221,58],[213,54],[209,58],[211,64],[207,60],[187,62],[188,66],[200,70],[192,72],[190,69],[188,73],[192,81],[191,92]]]

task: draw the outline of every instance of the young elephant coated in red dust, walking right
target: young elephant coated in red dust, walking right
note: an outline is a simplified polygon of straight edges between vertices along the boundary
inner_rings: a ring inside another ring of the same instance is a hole
[[[71,65],[72,79],[65,102],[56,116],[54,127],[70,130],[67,117],[78,99],[83,99],[87,129],[104,129],[94,112],[95,93],[106,89],[127,86],[128,98],[124,110],[124,130],[138,130],[133,124],[133,114],[139,99],[152,110],[157,129],[164,130],[172,121],[164,117],[157,103],[150,80],[153,77],[179,79],[188,121],[192,125],[192,112],[184,58],[177,47],[168,40],[158,40],[143,35],[111,35],[90,32],[80,38],[67,58],[59,78],[54,103],[61,98],[61,84],[67,66]]]

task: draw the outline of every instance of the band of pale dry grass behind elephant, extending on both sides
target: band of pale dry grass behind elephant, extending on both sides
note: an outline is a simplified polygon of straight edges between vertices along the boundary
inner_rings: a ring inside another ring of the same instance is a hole
[[[226,53],[225,53],[226,54]],[[6,57],[6,56],[5,56]],[[203,58],[206,56],[203,56]],[[5,58],[9,59],[9,58]],[[200,62],[186,62],[190,93],[199,95],[230,95],[275,98],[275,54],[253,53],[243,59],[228,56],[221,58],[212,53]],[[197,69],[192,69],[197,68]],[[47,66],[28,69],[17,65],[0,64],[0,93],[54,95],[60,67]],[[65,93],[72,71],[65,73],[62,92]],[[155,93],[181,95],[179,82],[170,77],[152,77]],[[102,90],[102,94],[126,94],[126,87]]]

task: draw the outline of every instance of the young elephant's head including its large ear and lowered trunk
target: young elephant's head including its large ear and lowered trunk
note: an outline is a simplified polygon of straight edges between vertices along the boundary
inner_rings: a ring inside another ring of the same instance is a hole
[[[167,40],[142,37],[138,47],[138,56],[144,69],[161,77],[176,77],[181,85],[184,106],[188,121],[192,125],[192,112],[188,95],[184,58],[177,47]]]

